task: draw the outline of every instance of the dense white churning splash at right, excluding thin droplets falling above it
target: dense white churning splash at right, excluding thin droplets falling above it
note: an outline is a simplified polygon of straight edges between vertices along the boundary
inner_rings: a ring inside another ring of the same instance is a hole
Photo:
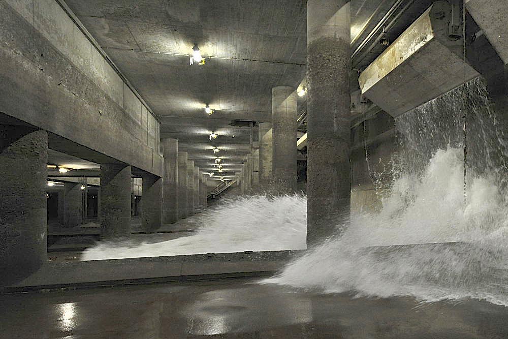
[[[421,178],[395,180],[378,213],[352,215],[340,237],[265,282],[329,293],[426,301],[471,297],[508,305],[504,200],[492,179],[470,177],[464,205],[462,180],[462,149],[438,150]],[[398,244],[406,245],[389,246]]]

